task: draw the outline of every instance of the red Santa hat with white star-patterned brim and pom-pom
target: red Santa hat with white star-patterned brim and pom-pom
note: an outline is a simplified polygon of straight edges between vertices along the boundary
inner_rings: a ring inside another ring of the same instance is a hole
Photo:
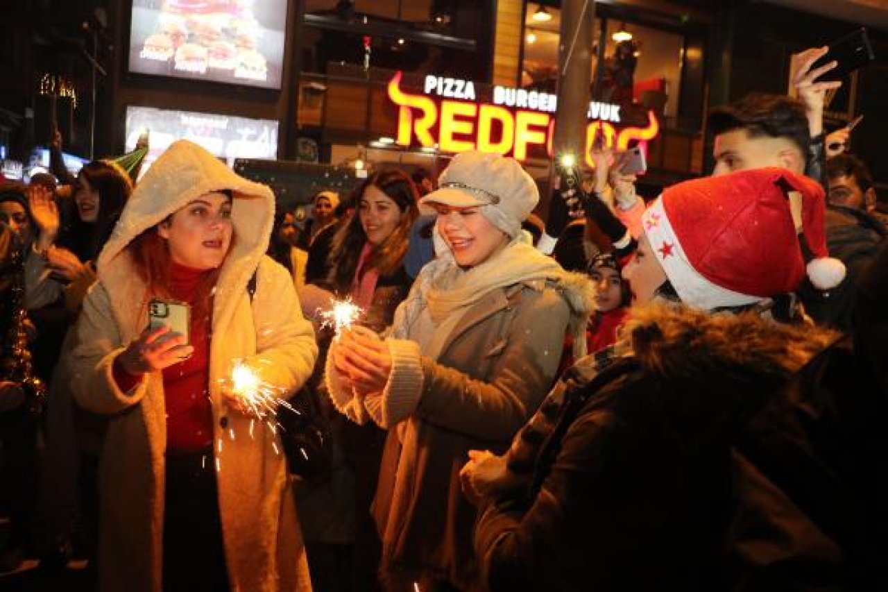
[[[844,278],[829,259],[819,183],[765,168],[667,188],[642,225],[670,284],[696,308],[737,307]],[[810,261],[807,264],[806,261]]]

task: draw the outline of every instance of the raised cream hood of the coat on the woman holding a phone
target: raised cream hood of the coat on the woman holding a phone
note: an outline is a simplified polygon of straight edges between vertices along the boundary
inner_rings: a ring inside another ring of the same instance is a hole
[[[265,185],[238,176],[218,158],[188,140],[170,145],[139,181],[99,254],[99,282],[116,286],[131,284],[134,268],[125,252],[127,245],[196,197],[224,189],[234,195],[231,214],[234,238],[231,252],[220,270],[217,292],[243,292],[266,252],[274,226],[274,193]],[[120,308],[115,306],[119,318],[131,312],[132,303],[126,300],[118,301]],[[234,300],[217,299],[214,316],[230,315],[230,310],[219,309],[220,304],[224,306],[226,302]]]

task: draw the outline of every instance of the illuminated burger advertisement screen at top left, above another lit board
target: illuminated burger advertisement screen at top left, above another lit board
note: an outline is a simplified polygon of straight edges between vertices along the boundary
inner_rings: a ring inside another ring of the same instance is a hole
[[[287,0],[133,0],[130,71],[281,88]]]

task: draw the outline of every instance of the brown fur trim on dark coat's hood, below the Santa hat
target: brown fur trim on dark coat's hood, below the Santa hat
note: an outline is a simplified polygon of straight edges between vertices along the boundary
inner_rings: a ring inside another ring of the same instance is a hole
[[[713,314],[657,304],[630,312],[621,341],[642,367],[663,378],[742,371],[783,380],[838,335],[811,324],[776,323],[752,312]]]

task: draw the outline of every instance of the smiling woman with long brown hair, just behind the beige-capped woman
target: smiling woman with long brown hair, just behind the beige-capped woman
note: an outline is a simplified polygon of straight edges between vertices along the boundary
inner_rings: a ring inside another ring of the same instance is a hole
[[[404,257],[409,231],[418,215],[416,187],[404,172],[380,171],[370,175],[355,196],[358,211],[342,222],[333,237],[329,276],[323,283],[327,289],[306,285],[304,310],[311,315],[329,309],[334,297],[350,298],[362,310],[359,323],[382,331],[392,324],[394,310],[407,296],[411,284]],[[315,367],[317,383],[321,382],[329,340],[329,332],[321,332],[323,353]],[[316,390],[321,390],[320,384]],[[327,396],[320,396],[319,403],[331,413]],[[321,486],[305,488],[298,498],[300,512],[305,516],[302,524],[309,562],[315,578],[343,571],[329,563],[337,554],[333,543],[347,547],[341,543],[351,538],[355,585],[357,589],[368,589],[374,585],[379,565],[379,542],[369,508],[377,487],[385,431],[374,425],[353,424],[338,413],[331,414],[335,416],[331,423],[337,445],[332,475]],[[353,486],[343,485],[351,479]],[[335,520],[327,519],[333,515],[337,516]],[[337,532],[331,524],[342,524],[342,529]],[[346,569],[345,577],[350,572]],[[347,582],[317,579],[314,585],[319,589],[349,586]]]

